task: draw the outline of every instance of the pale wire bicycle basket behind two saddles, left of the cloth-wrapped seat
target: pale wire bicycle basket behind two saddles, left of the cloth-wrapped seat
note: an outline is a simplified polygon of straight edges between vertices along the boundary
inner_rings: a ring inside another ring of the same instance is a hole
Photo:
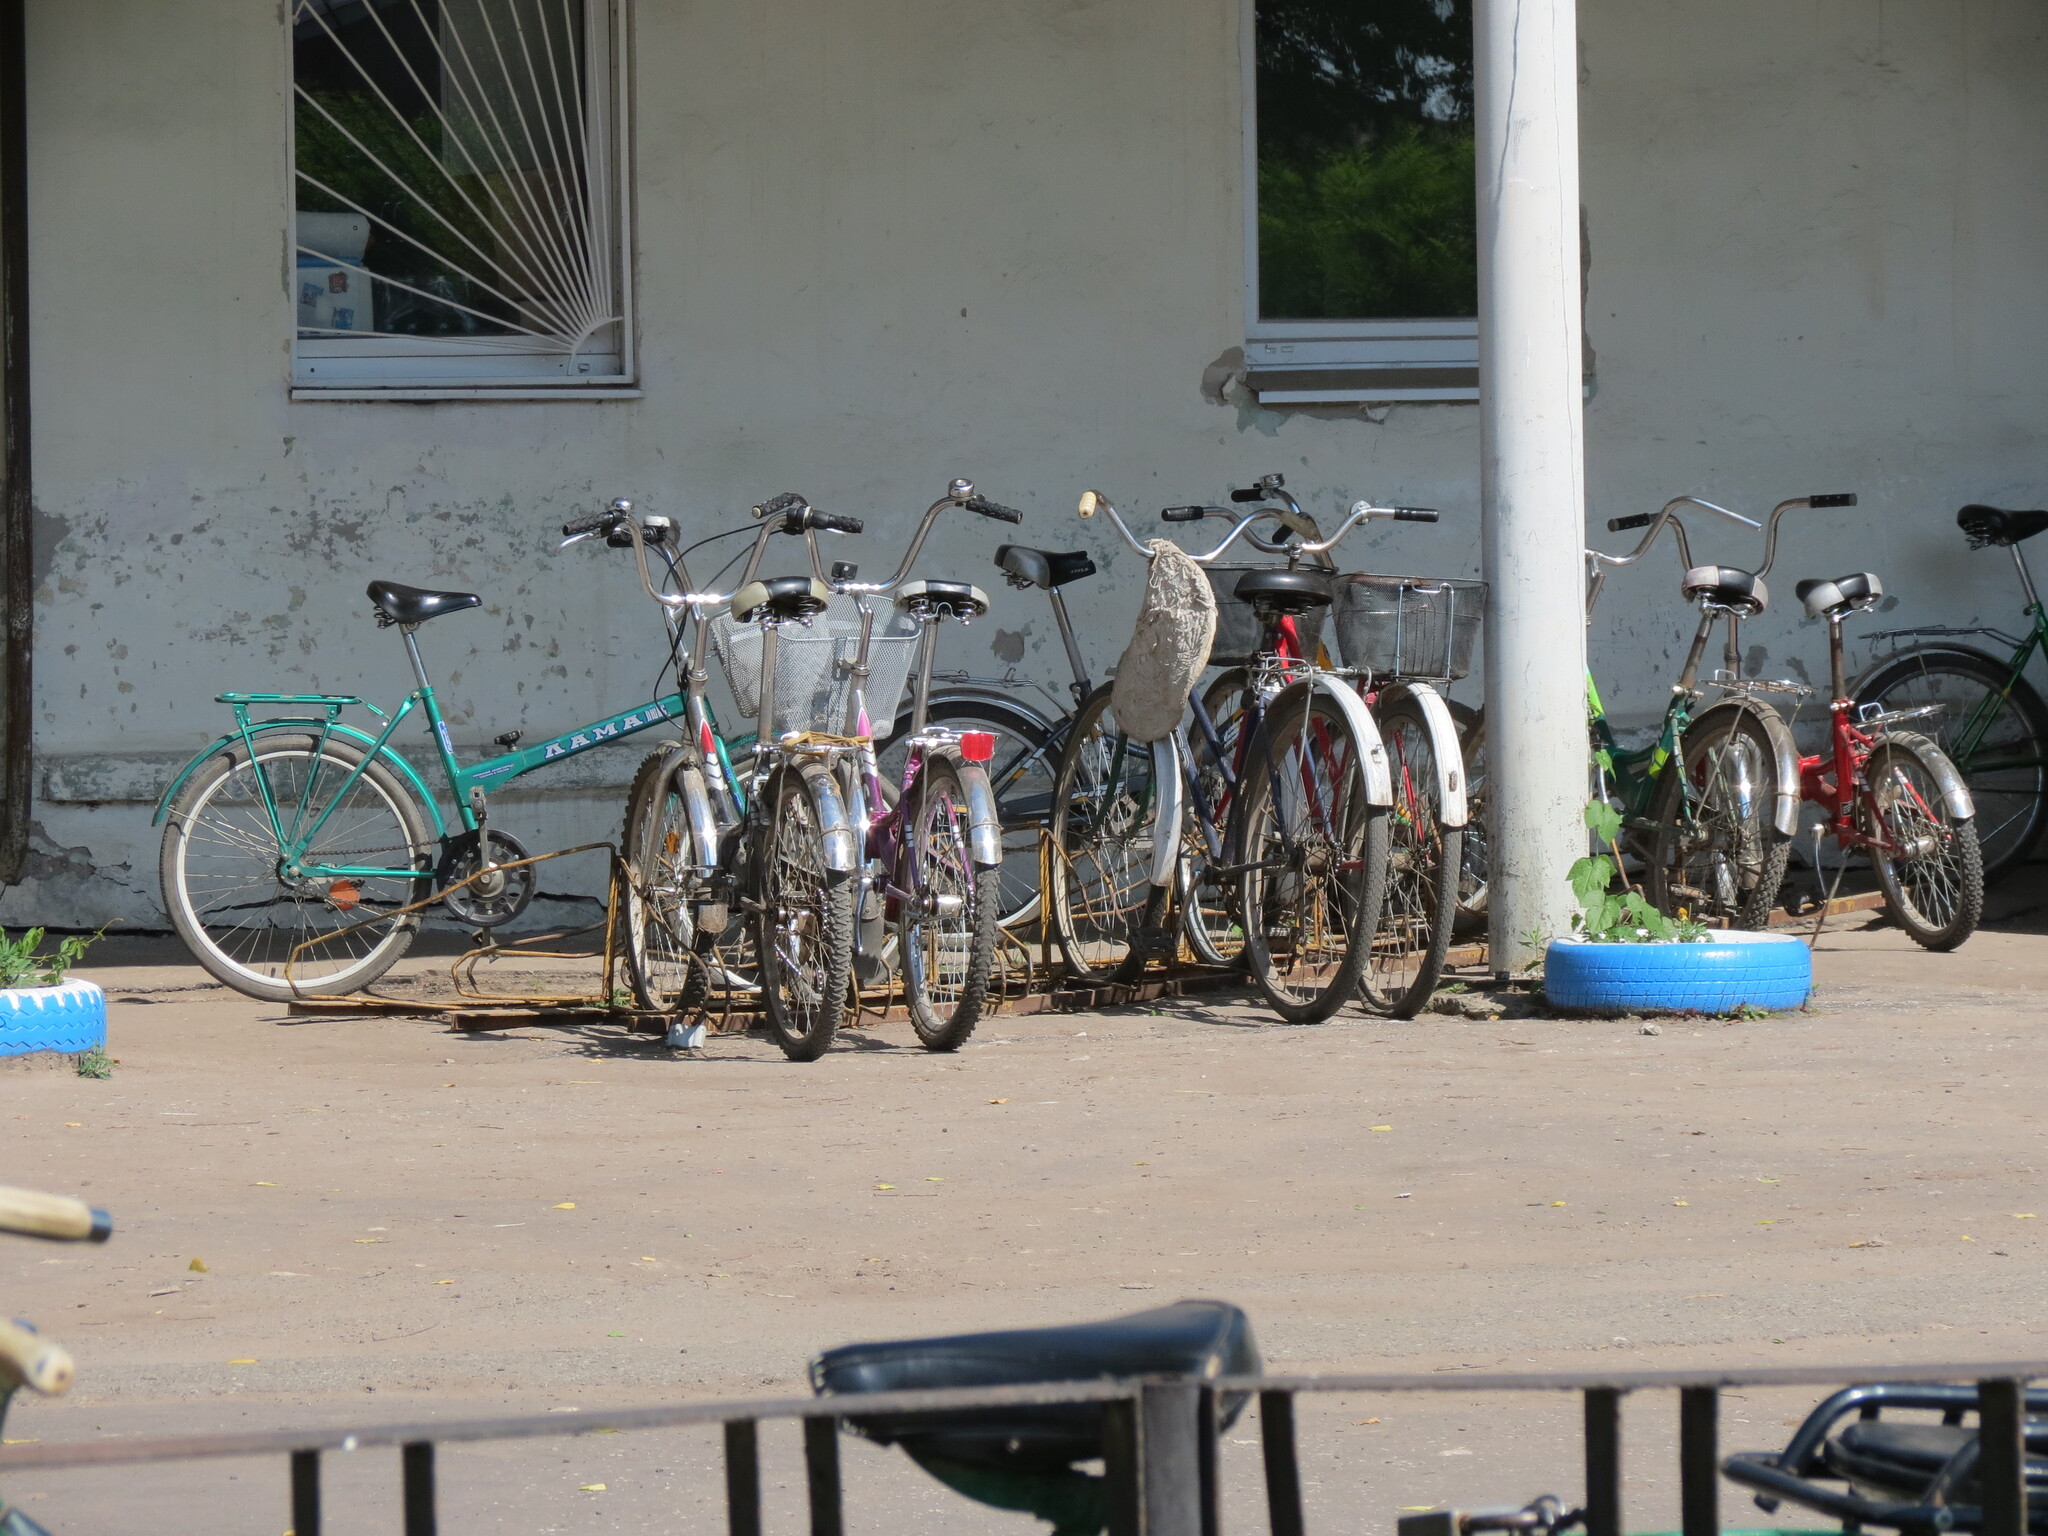
[[[874,614],[874,635],[868,639],[868,717],[883,735],[895,723],[903,694],[909,692],[920,635],[918,621],[905,612]],[[713,618],[711,653],[725,668],[725,682],[739,713],[760,715],[760,627],[735,625],[725,614]],[[834,598],[831,606],[809,625],[782,625],[776,637],[776,729],[844,731],[858,655],[860,612],[850,598]]]

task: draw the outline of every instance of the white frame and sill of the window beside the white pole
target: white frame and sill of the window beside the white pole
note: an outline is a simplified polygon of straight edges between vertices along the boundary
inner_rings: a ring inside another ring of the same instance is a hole
[[[1257,8],[1260,0],[1241,0],[1237,35],[1245,178],[1245,385],[1262,406],[1477,401],[1477,319],[1264,319],[1260,315]]]

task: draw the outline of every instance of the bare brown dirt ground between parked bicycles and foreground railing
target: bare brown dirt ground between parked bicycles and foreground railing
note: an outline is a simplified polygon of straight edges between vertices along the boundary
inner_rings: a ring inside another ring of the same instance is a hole
[[[797,1395],[836,1343],[1176,1296],[1243,1305],[1282,1370],[2048,1356],[2025,911],[1948,956],[1833,932],[1780,1018],[1290,1028],[1171,1001],[997,1018],[952,1057],[889,1024],[815,1065],[293,1018],[145,940],[84,975],[115,1075],[0,1071],[0,1182],[86,1194],[117,1233],[0,1253],[8,1309],[80,1360],[10,1444]],[[1724,1446],[1780,1444],[1812,1397],[1731,1395]],[[1630,1399],[1636,1530],[1675,1524],[1673,1423]],[[1563,1397],[1305,1401],[1311,1530],[1573,1497],[1575,1430]],[[797,1532],[797,1438],[764,1434],[770,1530]],[[1227,1436],[1231,1530],[1264,1530],[1255,1434]],[[444,1528],[721,1530],[713,1452],[444,1450]],[[334,1530],[399,1528],[393,1454],[328,1464]],[[1036,1528],[895,1452],[848,1442],[846,1479],[852,1532]],[[287,1524],[281,1462],[6,1491],[57,1532]],[[1757,1524],[1735,1489],[1724,1513]]]

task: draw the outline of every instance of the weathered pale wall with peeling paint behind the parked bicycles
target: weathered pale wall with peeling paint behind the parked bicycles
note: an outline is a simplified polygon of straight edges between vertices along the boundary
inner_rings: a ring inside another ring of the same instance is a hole
[[[1751,635],[1772,668],[1819,674],[1796,575],[1874,565],[1898,623],[2009,618],[2009,575],[1950,518],[2044,479],[2048,12],[1581,14],[1593,526],[1681,489],[1862,492],[1788,539]],[[160,922],[129,797],[217,731],[221,688],[397,698],[373,575],[485,596],[422,631],[459,741],[637,702],[651,610],[616,557],[549,539],[610,496],[711,530],[803,489],[868,518],[879,567],[973,475],[1030,520],[944,528],[928,567],[997,598],[971,662],[1001,672],[1022,635],[1020,670],[1049,678],[1042,600],[987,557],[1001,537],[1092,545],[1106,575],[1073,594],[1112,659],[1135,561],[1075,522],[1085,485],[1157,506],[1280,469],[1317,510],[1446,508],[1360,541],[1360,567],[1477,571],[1473,408],[1372,422],[1200,393],[1241,340],[1237,0],[637,0],[637,43],[645,397],[291,403],[279,8],[31,10],[37,750],[63,799],[37,805],[0,922]],[[1610,586],[1593,657],[1622,715],[1661,707],[1688,629],[1673,578]],[[614,752],[623,780],[637,750]],[[502,823],[561,846],[612,829],[614,801],[520,801]]]

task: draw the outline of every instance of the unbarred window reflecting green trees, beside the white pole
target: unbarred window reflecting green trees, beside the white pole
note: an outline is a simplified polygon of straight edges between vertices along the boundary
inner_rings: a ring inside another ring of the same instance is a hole
[[[1247,383],[1477,399],[1470,0],[1249,0]]]

